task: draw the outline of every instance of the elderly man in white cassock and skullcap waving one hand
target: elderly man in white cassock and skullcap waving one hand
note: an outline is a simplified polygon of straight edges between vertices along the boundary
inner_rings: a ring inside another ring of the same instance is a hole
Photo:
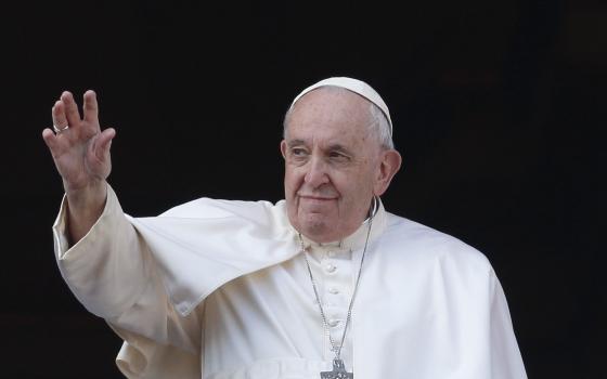
[[[201,198],[125,214],[92,91],[42,133],[63,178],[53,227],[75,296],[125,340],[129,378],[520,379],[500,283],[459,239],[387,212],[388,107],[328,78],[284,122],[285,200]]]

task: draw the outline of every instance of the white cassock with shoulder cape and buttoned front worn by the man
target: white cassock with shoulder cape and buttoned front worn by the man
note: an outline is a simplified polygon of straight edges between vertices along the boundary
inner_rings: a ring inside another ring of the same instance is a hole
[[[157,218],[103,214],[57,264],[79,301],[125,340],[128,378],[318,379],[332,369],[367,232],[305,239],[327,328],[284,200],[202,198]],[[346,335],[359,379],[527,378],[500,282],[461,240],[388,213],[373,218]]]

